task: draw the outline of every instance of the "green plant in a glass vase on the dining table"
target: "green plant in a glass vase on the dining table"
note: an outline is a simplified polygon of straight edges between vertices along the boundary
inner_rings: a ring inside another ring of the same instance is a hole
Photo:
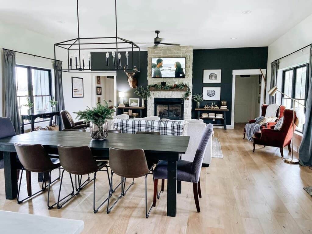
[[[108,108],[108,103],[104,100],[105,105],[100,103],[96,107],[87,108],[83,111],[73,112],[77,115],[76,119],[83,120],[85,123],[90,121],[90,136],[95,140],[104,140],[108,136],[108,124],[106,119],[112,119],[114,109]]]

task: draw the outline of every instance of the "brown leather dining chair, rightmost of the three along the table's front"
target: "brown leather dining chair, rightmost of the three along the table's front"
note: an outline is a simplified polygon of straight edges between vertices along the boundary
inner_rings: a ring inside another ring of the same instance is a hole
[[[110,148],[110,169],[111,178],[113,174],[119,175],[121,181],[123,178],[139,178],[145,176],[145,217],[149,217],[149,213],[152,210],[152,206],[147,210],[147,175],[153,171],[153,167],[149,167],[145,158],[143,149],[117,149]],[[130,184],[131,186],[132,184]],[[125,192],[130,188],[130,186],[125,190],[125,186],[121,183],[121,193],[117,200],[110,207],[110,197],[112,194],[112,180],[110,181],[110,192],[107,201],[107,213],[110,213],[112,208],[116,205],[121,197],[124,196]]]

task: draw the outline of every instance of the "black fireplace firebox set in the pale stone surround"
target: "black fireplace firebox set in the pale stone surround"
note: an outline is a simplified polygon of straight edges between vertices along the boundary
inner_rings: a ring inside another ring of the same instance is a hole
[[[154,115],[160,119],[183,119],[183,98],[154,98]]]

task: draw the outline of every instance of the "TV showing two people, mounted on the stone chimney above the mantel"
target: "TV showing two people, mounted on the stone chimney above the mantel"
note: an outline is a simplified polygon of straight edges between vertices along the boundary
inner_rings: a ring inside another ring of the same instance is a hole
[[[152,58],[153,78],[185,78],[185,58]]]

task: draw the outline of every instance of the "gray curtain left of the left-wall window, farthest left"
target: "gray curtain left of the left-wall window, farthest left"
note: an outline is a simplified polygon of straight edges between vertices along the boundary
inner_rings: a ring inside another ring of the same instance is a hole
[[[16,134],[21,134],[15,80],[15,52],[4,50],[3,55],[4,115],[11,119]]]

